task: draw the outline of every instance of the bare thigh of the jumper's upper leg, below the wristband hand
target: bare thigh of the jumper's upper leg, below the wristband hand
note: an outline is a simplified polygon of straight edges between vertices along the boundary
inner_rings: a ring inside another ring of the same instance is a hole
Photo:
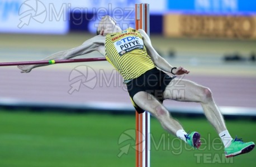
[[[189,80],[174,78],[165,88],[163,96],[164,99],[199,102],[205,88]]]

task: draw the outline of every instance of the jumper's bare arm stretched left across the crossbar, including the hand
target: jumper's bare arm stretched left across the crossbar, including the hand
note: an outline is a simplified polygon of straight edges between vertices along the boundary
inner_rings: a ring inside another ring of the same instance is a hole
[[[105,36],[95,36],[87,41],[85,41],[82,45],[72,48],[67,51],[61,51],[54,53],[51,56],[44,58],[43,60],[65,60],[69,58],[73,58],[80,55],[85,55],[87,53],[98,51],[102,56],[105,56]],[[48,65],[26,65],[26,66],[18,66],[22,71],[21,72],[30,72],[33,68],[48,66]]]

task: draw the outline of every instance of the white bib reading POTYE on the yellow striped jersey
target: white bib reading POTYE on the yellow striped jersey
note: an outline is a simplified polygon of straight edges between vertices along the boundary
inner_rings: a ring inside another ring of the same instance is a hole
[[[144,48],[143,40],[136,36],[122,38],[121,40],[116,41],[114,45],[120,56],[132,50]]]

